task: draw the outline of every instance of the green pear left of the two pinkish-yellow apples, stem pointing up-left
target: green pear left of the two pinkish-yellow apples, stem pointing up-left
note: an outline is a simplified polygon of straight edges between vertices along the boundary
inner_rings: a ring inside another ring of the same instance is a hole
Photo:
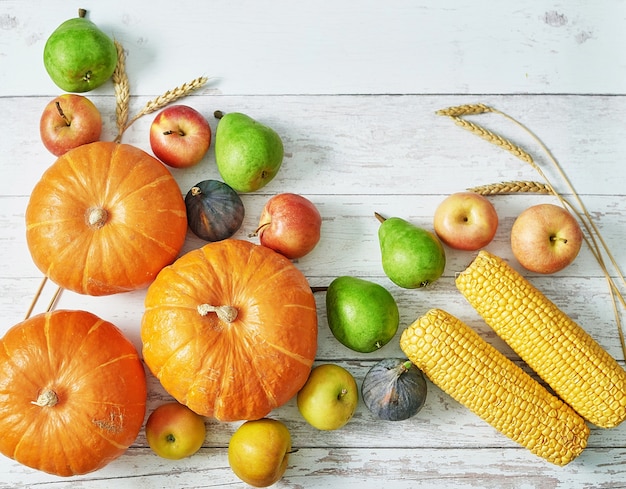
[[[375,213],[381,222],[378,240],[383,270],[399,287],[425,287],[443,274],[446,252],[434,233],[399,217],[385,219]]]

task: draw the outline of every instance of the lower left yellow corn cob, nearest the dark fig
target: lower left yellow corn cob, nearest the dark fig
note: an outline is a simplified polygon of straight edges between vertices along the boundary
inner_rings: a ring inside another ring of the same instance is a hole
[[[447,312],[417,319],[400,347],[435,385],[547,461],[565,465],[587,446],[583,418]]]

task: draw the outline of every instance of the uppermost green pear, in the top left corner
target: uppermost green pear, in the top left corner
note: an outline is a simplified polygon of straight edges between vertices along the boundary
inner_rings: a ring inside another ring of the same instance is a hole
[[[113,75],[117,49],[113,40],[87,20],[85,10],[50,35],[43,62],[52,81],[66,92],[88,92]]]

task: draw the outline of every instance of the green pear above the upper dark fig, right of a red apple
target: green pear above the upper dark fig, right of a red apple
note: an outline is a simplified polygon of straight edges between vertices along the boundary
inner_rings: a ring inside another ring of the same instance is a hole
[[[215,162],[225,183],[238,192],[267,185],[283,161],[283,142],[271,127],[239,112],[221,116],[215,133]]]

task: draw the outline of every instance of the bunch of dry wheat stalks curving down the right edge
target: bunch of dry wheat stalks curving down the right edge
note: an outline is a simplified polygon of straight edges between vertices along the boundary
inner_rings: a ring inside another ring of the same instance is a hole
[[[600,268],[602,269],[604,276],[606,278],[606,281],[608,283],[608,286],[609,286],[609,293],[611,295],[611,300],[613,303],[615,321],[617,323],[617,332],[618,332],[619,339],[622,345],[622,352],[624,354],[624,358],[626,359],[626,339],[624,338],[624,332],[622,330],[622,323],[621,323],[621,318],[620,318],[618,305],[617,305],[617,301],[619,301],[622,304],[622,306],[626,308],[626,299],[624,299],[624,295],[621,293],[617,284],[615,283],[615,280],[611,276],[606,266],[606,263],[604,261],[602,251],[604,251],[604,253],[609,258],[609,261],[613,265],[622,284],[626,285],[626,279],[624,278],[624,274],[622,273],[619,265],[617,264],[615,258],[613,257],[613,254],[611,253],[608,245],[606,244],[606,241],[602,237],[600,230],[596,226],[591,215],[589,214],[589,211],[585,207],[585,204],[583,203],[582,199],[580,198],[580,196],[574,189],[574,186],[571,184],[569,178],[565,174],[565,171],[563,170],[563,168],[561,167],[557,159],[552,155],[552,152],[543,143],[543,141],[541,141],[541,139],[537,135],[535,135],[528,127],[523,125],[521,122],[517,121],[515,118],[509,116],[508,114],[505,114],[504,112],[501,112],[493,108],[489,108],[488,111],[478,112],[478,110],[480,110],[481,107],[486,107],[486,106],[483,106],[483,104],[471,104],[471,105],[452,107],[449,109],[443,109],[442,111],[438,111],[437,113],[441,115],[448,115],[460,127],[463,127],[464,129],[469,130],[470,132],[480,136],[486,141],[489,141],[493,144],[496,144],[497,146],[500,146],[506,149],[507,151],[511,152],[512,154],[514,154],[521,160],[529,163],[539,173],[539,175],[541,175],[541,177],[546,181],[547,188],[551,190],[550,193],[555,195],[561,201],[564,207],[571,209],[571,211],[576,215],[576,217],[582,222],[583,227],[588,235],[588,236],[584,236],[584,240],[589,246],[591,253],[597,260],[598,264],[600,265]],[[565,184],[568,186],[568,188],[572,192],[574,199],[579,206],[578,208],[571,201],[565,199],[559,192],[555,190],[554,186],[550,183],[550,181],[548,180],[543,170],[539,167],[539,165],[535,163],[535,161],[533,160],[532,156],[530,156],[529,153],[527,153],[525,150],[523,150],[519,146],[513,144],[508,139],[498,136],[497,134],[489,131],[488,129],[485,129],[482,126],[479,126],[478,124],[466,121],[461,118],[461,115],[472,115],[472,114],[479,114],[479,113],[484,113],[484,112],[493,112],[493,113],[496,113],[505,117],[506,119],[512,121],[517,126],[521,127],[535,140],[535,142],[547,154],[549,161],[556,168],[557,172],[559,173],[561,178],[564,180]],[[454,114],[454,115],[449,115],[449,114]],[[495,195],[496,193],[510,193],[510,192],[504,192],[505,187],[506,187],[505,184],[491,184],[491,185],[486,185],[486,186],[478,187],[478,188],[481,189],[481,191],[491,190],[492,192],[494,192],[490,195]],[[511,187],[508,187],[508,188],[510,190]],[[502,192],[496,192],[497,190],[501,190]],[[522,186],[520,187],[520,190],[518,191],[525,191],[525,190],[528,190],[528,188]]]

